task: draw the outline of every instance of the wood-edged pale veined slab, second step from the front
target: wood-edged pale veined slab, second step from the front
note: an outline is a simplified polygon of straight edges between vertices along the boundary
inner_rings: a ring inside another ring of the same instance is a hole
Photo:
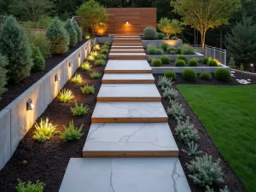
[[[167,123],[91,124],[84,157],[177,157]]]

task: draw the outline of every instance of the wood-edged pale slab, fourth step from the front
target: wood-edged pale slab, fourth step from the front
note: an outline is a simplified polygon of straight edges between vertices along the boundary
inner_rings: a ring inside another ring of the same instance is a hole
[[[155,84],[102,84],[97,102],[160,102]]]

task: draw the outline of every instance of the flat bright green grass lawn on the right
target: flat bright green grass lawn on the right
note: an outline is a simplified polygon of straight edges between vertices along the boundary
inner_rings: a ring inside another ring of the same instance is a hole
[[[247,190],[256,191],[256,85],[177,88]]]

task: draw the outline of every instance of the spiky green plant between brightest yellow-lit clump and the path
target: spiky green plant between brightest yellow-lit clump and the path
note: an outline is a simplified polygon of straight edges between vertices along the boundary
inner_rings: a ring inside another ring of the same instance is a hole
[[[73,120],[69,122],[68,126],[65,125],[64,131],[61,133],[61,139],[65,142],[73,141],[73,140],[79,140],[83,136],[82,129],[83,124],[78,128],[73,125]]]

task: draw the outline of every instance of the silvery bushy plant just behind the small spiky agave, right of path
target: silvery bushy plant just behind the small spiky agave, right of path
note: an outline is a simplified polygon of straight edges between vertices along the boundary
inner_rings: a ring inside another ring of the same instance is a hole
[[[175,131],[178,140],[183,141],[183,143],[196,142],[200,138],[195,125],[190,123],[189,117],[187,117],[186,121],[177,121]]]

